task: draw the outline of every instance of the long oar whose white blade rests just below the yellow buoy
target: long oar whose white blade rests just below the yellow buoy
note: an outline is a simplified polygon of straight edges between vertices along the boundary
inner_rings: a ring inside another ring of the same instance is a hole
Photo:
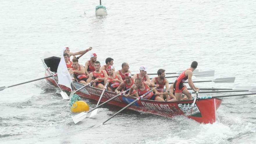
[[[100,104],[99,106],[96,106],[95,108],[91,109],[90,111],[88,111],[88,112],[86,112],[86,113],[85,113],[85,112],[81,112],[81,113],[79,113],[79,114],[77,114],[77,115],[71,117],[72,120],[73,120],[73,122],[74,122],[75,124],[76,124],[77,122],[80,122],[81,120],[83,120],[84,118],[86,118],[86,114],[87,114],[87,113],[90,113],[91,111],[93,111],[93,110],[99,108],[100,106],[102,106],[102,105],[104,105],[104,104],[110,102],[111,100],[115,99],[116,97],[118,97],[118,96],[120,96],[120,95],[125,95],[129,90],[130,90],[130,89],[127,89],[127,90],[125,90],[125,91],[119,93],[118,95],[112,97],[111,99],[109,99],[109,100],[107,100],[106,102]]]

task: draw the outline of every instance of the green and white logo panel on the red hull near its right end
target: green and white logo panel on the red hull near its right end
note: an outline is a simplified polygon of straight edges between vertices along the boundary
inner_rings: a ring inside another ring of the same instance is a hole
[[[192,103],[186,103],[186,104],[178,104],[179,109],[182,110],[182,112],[185,115],[188,116],[195,116],[195,117],[202,117],[200,110],[198,109],[196,103],[193,107],[193,111],[191,113],[191,109],[192,109]]]

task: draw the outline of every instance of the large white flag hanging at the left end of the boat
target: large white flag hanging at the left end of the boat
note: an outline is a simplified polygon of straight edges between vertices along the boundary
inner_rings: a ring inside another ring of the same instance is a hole
[[[71,79],[70,73],[67,71],[67,65],[65,63],[63,54],[61,55],[61,61],[57,69],[57,74],[58,74],[58,84],[66,86],[72,90],[71,88],[72,79]]]

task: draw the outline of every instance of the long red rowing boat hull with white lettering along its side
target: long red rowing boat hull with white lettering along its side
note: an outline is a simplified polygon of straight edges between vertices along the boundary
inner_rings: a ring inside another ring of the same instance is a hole
[[[45,70],[45,76],[50,76],[57,72],[58,63],[60,62],[59,57],[48,57],[44,59],[47,67],[50,67],[50,71]],[[58,81],[58,77],[49,77],[47,81],[56,86],[54,79]],[[82,83],[73,82],[74,89],[79,89],[84,86]],[[62,90],[70,92],[70,88],[66,86],[60,85]],[[85,97],[92,100],[99,100],[99,97],[102,93],[102,89],[95,88],[93,86],[87,86],[76,94],[80,97]],[[111,91],[105,91],[101,102],[105,102],[108,99],[114,97],[116,93]],[[133,102],[135,97],[125,97],[119,96],[114,100],[110,101],[109,104],[125,107],[127,104]],[[198,99],[195,101],[195,104],[192,109],[193,100],[189,101],[178,101],[178,102],[161,102],[161,101],[153,101],[153,100],[139,100],[131,105],[128,109],[142,112],[142,113],[150,113],[154,115],[160,115],[167,118],[173,118],[176,115],[184,115],[188,118],[191,118],[200,123],[214,123],[216,122],[216,111],[221,105],[222,100],[218,98],[211,99]],[[192,112],[191,112],[192,110]]]

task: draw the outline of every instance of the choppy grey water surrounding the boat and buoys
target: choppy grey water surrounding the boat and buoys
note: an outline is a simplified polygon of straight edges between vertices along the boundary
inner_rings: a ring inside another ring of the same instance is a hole
[[[0,1],[0,86],[44,76],[45,51],[90,46],[104,64],[128,62],[176,72],[194,60],[215,70],[212,80],[235,76],[235,83],[196,83],[198,87],[255,86],[255,1],[103,0],[108,15],[95,16],[98,1]],[[79,59],[81,64],[89,53]],[[170,79],[169,81],[174,81]],[[106,105],[93,119],[74,125],[69,104],[58,89],[41,80],[0,92],[1,143],[256,143],[256,98],[223,98],[213,125],[182,116],[163,118]],[[84,99],[91,108],[95,102]]]

